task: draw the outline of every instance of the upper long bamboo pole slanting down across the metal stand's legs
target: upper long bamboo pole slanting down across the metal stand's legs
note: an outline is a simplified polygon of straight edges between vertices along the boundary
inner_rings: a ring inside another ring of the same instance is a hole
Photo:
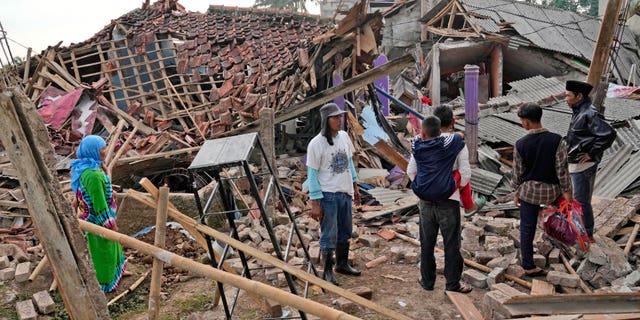
[[[132,193],[132,195],[135,195],[136,193]],[[146,197],[138,197],[137,198],[138,201],[140,201],[143,204],[146,204],[152,208],[155,208],[155,202],[151,201],[150,199],[146,198]],[[184,216],[183,213],[179,212],[178,210],[176,210],[175,208],[172,208],[171,206],[169,207],[169,216],[171,217],[176,217],[176,216]],[[177,218],[176,218],[177,220]],[[329,282],[326,282],[316,276],[314,276],[313,274],[310,274],[308,272],[305,272],[304,270],[298,268],[297,266],[293,266],[290,264],[285,263],[282,260],[277,259],[276,257],[267,254],[265,252],[262,252],[256,248],[252,248],[232,237],[230,237],[229,235],[219,232],[215,229],[212,229],[206,225],[203,225],[201,223],[196,222],[193,219],[189,219],[187,220],[183,220],[184,223],[191,223],[190,227],[194,228],[195,230],[202,232],[204,234],[207,234],[211,237],[213,237],[214,239],[218,239],[226,244],[228,244],[229,246],[231,246],[232,248],[236,249],[236,250],[240,250],[243,251],[244,253],[253,256],[254,258],[260,260],[260,261],[264,261],[267,263],[270,263],[271,265],[273,265],[274,267],[287,272],[299,279],[303,279],[306,281],[309,281],[312,284],[315,284],[317,286],[319,286],[320,288],[323,288],[329,292],[335,293],[337,295],[340,295],[350,301],[353,301],[363,307],[369,308],[371,310],[374,310],[390,319],[396,319],[396,320],[410,320],[410,318],[408,318],[407,316],[401,315],[399,314],[397,311],[393,311],[390,310],[384,306],[378,305],[373,303],[370,300],[367,300],[353,292],[347,291],[343,288],[340,288],[336,285],[333,285]],[[185,228],[187,228],[187,226],[185,224],[183,224],[183,222],[180,222]],[[189,230],[189,229],[187,229]],[[256,292],[257,293],[257,292]],[[269,299],[272,299],[271,297],[269,297]],[[284,303],[287,304],[287,303]],[[306,311],[306,310],[304,310]]]

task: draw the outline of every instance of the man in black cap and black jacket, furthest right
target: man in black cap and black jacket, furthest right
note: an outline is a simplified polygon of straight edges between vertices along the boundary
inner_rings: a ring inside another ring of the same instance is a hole
[[[573,110],[567,133],[573,197],[582,205],[585,229],[593,241],[593,183],[602,153],[613,144],[616,131],[591,104],[591,89],[586,82],[567,81],[565,101]]]

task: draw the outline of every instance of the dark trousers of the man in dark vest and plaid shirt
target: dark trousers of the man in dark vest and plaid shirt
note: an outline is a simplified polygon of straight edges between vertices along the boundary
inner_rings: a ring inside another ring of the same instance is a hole
[[[520,200],[520,256],[522,268],[535,269],[533,263],[533,238],[536,236],[540,205]]]

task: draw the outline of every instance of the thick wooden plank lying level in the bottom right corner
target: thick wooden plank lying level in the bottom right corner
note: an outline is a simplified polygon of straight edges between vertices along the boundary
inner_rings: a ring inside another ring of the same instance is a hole
[[[640,314],[637,293],[591,293],[513,297],[502,304],[514,316],[539,314]]]

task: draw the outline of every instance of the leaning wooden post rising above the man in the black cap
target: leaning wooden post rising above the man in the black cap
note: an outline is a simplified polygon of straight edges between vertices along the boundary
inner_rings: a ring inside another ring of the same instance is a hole
[[[591,58],[591,65],[589,66],[589,74],[587,75],[587,82],[596,89],[594,92],[607,90],[606,86],[604,88],[600,87],[600,78],[607,70],[611,45],[613,44],[613,39],[616,36],[618,27],[618,13],[621,7],[621,0],[607,1],[607,7],[605,8],[602,24],[600,25],[600,32],[598,32],[598,40],[596,40],[596,47],[594,48],[593,58]],[[595,107],[600,113],[604,113],[602,104],[595,105]]]

